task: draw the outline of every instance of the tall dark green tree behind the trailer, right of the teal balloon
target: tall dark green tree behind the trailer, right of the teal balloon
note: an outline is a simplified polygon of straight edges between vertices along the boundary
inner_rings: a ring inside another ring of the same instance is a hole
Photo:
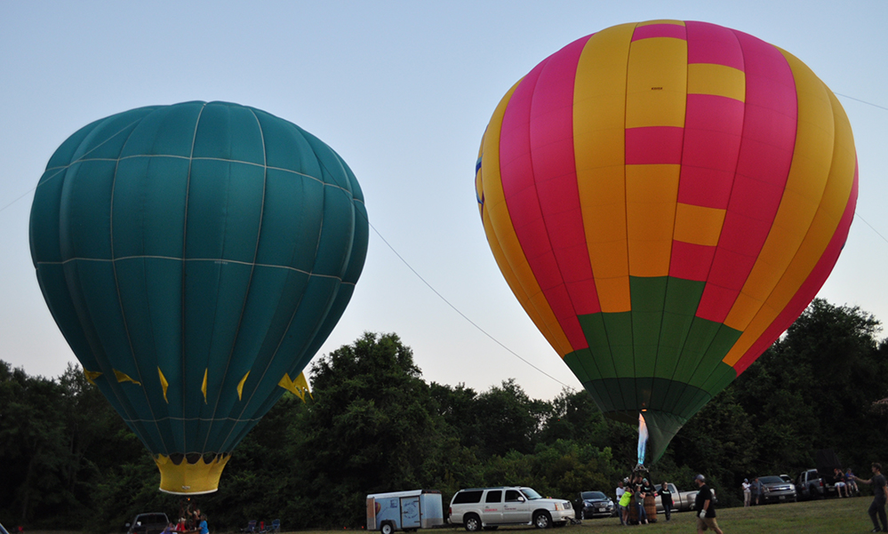
[[[293,521],[357,526],[367,493],[431,482],[444,421],[396,334],[365,333],[318,360],[312,376],[315,401],[295,428]]]

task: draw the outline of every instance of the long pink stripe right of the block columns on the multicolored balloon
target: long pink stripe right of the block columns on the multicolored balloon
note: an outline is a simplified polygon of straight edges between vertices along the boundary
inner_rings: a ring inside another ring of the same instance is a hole
[[[724,323],[771,230],[796,142],[796,88],[787,60],[771,44],[733,31],[743,51],[746,104],[736,176],[697,315]],[[710,289],[709,285],[712,285]]]

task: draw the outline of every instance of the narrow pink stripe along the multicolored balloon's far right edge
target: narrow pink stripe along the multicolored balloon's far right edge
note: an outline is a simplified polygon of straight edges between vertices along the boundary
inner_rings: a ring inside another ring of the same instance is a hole
[[[796,318],[804,312],[804,308],[808,307],[814,297],[817,296],[817,291],[820,291],[823,283],[827,281],[829,273],[836,266],[836,260],[838,260],[844,243],[848,239],[848,231],[851,229],[852,220],[854,220],[854,210],[857,206],[857,171],[857,164],[855,163],[854,184],[851,196],[848,199],[847,205],[845,205],[842,219],[839,221],[838,227],[836,227],[836,233],[829,240],[826,251],[823,251],[823,255],[812,269],[811,274],[808,275],[802,286],[796,291],[796,295],[789,301],[788,305],[783,308],[780,315],[774,319],[771,326],[756,339],[756,342],[752,347],[749,347],[746,354],[740,357],[737,363],[734,363],[734,371],[737,371],[737,376],[746,371],[749,365],[755,362],[758,356],[764,352],[764,349],[771,347],[774,340],[779,338],[780,334],[796,321]]]

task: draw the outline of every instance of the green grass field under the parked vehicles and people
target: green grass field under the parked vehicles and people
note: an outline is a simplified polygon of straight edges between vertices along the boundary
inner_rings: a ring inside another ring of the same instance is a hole
[[[867,509],[871,497],[832,498],[804,503],[787,503],[781,505],[753,506],[749,508],[726,508],[718,510],[718,526],[725,534],[774,534],[800,533],[805,534],[844,534],[868,532],[873,528],[869,522]],[[696,532],[695,516],[692,513],[672,514],[672,521],[664,521],[663,514],[657,516],[658,522],[649,525],[624,527],[616,518],[586,520],[581,525],[568,525],[564,529],[548,530],[551,534],[596,534],[638,532],[650,534],[689,534]],[[498,532],[511,531],[532,532],[532,527],[507,527]],[[463,533],[465,530],[444,528],[439,532]],[[301,530],[300,534],[333,534],[344,530]],[[347,530],[345,532],[354,532]],[[419,531],[420,534],[422,530]],[[28,530],[28,534],[79,534],[75,532],[61,533],[58,531]],[[211,530],[211,534],[224,534]]]

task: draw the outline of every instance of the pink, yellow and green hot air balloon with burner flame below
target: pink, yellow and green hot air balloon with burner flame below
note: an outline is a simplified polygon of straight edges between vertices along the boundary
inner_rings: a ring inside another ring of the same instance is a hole
[[[652,20],[543,60],[484,133],[493,256],[610,418],[654,461],[780,336],[836,263],[857,199],[851,126],[792,54]]]

